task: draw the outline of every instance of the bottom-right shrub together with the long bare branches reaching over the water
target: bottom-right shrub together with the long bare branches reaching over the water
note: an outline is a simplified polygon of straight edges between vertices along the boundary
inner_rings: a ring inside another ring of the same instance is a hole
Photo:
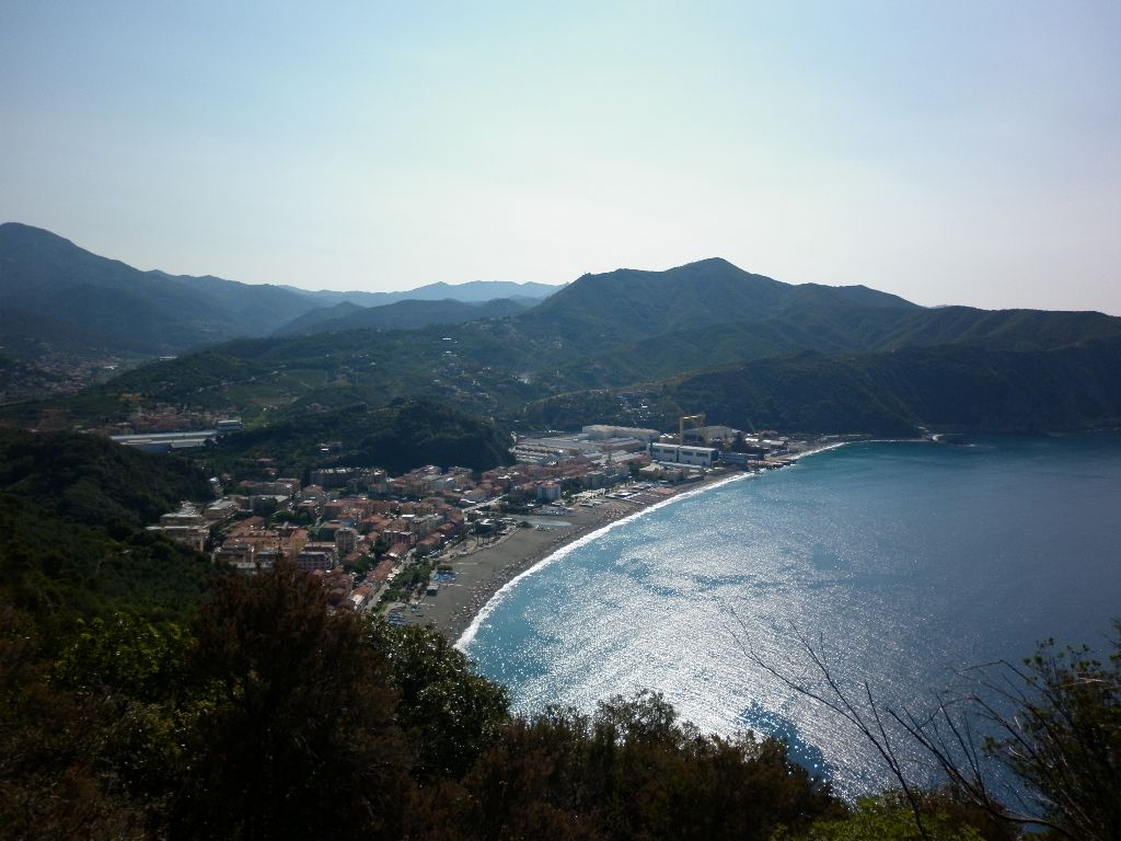
[[[900,759],[901,739],[933,759],[954,802],[1009,824],[1108,841],[1121,838],[1121,623],[1114,630],[1109,664],[1085,647],[1059,650],[1047,640],[1021,665],[1000,660],[973,669],[970,693],[944,695],[924,713],[881,708],[867,683],[842,685],[824,646],[814,648],[802,637],[816,680],[793,678],[750,646],[744,651],[849,721],[876,748],[898,780],[920,838],[933,838],[924,820],[927,795]]]

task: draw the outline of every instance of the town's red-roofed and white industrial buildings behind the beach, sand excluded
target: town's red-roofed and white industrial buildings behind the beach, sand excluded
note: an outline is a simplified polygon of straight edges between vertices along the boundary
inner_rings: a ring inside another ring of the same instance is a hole
[[[712,429],[744,441],[738,431]],[[150,529],[247,573],[287,561],[321,577],[334,607],[361,610],[406,562],[438,555],[472,534],[493,534],[500,528],[495,511],[522,514],[632,479],[688,480],[730,456],[743,464],[785,447],[753,438],[747,440],[752,452],[729,453],[665,437],[656,429],[595,425],[521,437],[515,464],[481,475],[456,466],[398,477],[342,466],[309,471],[307,484],[285,477],[243,481],[209,505],[185,503]]]

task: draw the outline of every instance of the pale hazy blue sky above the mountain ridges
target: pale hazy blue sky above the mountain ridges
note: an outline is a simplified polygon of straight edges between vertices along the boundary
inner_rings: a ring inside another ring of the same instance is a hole
[[[0,3],[0,221],[307,288],[1121,315],[1121,2]]]

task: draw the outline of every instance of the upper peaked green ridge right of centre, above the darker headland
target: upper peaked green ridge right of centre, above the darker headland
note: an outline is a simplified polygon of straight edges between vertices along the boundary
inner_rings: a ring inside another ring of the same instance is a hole
[[[622,350],[641,358],[652,351],[658,360],[683,352],[696,369],[804,350],[860,353],[934,344],[1029,350],[1121,336],[1121,318],[1101,313],[928,308],[864,286],[794,286],[721,259],[666,271],[586,275],[515,322],[527,334],[572,342],[557,349],[562,358]],[[707,364],[694,364],[705,350]],[[655,364],[663,370],[647,376],[688,370]]]

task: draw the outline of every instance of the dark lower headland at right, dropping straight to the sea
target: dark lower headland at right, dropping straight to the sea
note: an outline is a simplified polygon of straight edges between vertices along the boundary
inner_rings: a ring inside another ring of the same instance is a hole
[[[920,426],[1016,434],[1112,427],[1121,425],[1121,340],[1054,351],[804,353],[688,377],[670,394],[739,428],[906,436]]]

